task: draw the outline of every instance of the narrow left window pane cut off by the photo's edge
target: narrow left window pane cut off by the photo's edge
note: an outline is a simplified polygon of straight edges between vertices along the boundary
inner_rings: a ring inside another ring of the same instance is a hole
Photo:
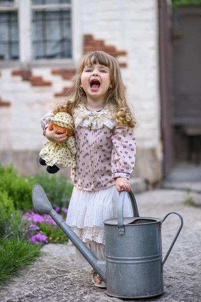
[[[17,12],[0,12],[1,60],[19,59],[19,31],[17,19]]]

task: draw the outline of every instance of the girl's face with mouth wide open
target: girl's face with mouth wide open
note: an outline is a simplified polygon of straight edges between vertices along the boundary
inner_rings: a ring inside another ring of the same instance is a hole
[[[81,87],[87,101],[105,101],[107,91],[112,88],[109,67],[99,63],[86,65],[81,74]]]

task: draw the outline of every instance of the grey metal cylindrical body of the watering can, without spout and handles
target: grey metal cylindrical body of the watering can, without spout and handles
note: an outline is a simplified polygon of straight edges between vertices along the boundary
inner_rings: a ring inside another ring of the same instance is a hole
[[[163,293],[161,220],[124,218],[125,234],[105,221],[107,293],[119,298]],[[131,224],[130,224],[131,223]]]

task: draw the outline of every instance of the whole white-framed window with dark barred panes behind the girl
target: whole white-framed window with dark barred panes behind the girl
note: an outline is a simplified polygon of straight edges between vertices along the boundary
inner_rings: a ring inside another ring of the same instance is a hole
[[[78,6],[77,0],[0,0],[0,60],[72,59],[80,46],[75,30],[72,41],[72,2]]]

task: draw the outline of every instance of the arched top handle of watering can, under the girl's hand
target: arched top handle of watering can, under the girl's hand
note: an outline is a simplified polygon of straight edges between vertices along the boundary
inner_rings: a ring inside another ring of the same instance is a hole
[[[126,191],[122,191],[119,196],[119,203],[118,203],[118,229],[119,229],[119,235],[124,235],[125,233],[125,228],[124,228],[124,217],[123,217],[123,207],[124,207],[124,198],[126,195]],[[130,200],[131,200],[131,205],[133,209],[133,215],[134,217],[139,217],[139,212],[138,212],[138,207],[137,207],[137,202],[135,199],[135,196],[132,191],[128,192]]]

